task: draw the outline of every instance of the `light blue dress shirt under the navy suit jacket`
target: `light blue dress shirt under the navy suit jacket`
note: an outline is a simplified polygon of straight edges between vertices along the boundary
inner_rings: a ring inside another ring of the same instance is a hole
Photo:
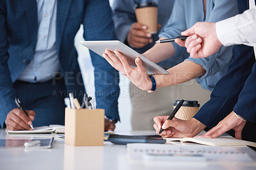
[[[36,3],[38,34],[35,54],[18,78],[31,83],[51,80],[60,71],[56,49],[57,0],[36,0]]]

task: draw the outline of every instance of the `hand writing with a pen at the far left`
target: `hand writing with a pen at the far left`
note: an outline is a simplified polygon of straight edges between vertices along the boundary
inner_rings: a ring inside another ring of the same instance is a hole
[[[26,112],[28,116],[19,108],[10,111],[6,117],[6,129],[11,131],[32,130],[30,125],[36,114],[32,110],[26,110]]]

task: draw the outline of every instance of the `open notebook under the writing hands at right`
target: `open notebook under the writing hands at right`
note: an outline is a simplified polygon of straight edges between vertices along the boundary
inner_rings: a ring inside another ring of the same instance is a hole
[[[218,137],[218,138],[164,138],[167,143],[172,141],[193,142],[202,145],[209,146],[253,146],[256,147],[256,143],[250,141],[239,140],[232,137]]]

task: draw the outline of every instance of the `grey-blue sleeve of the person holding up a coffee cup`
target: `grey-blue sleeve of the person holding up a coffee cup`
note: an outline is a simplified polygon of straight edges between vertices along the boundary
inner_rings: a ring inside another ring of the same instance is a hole
[[[117,38],[125,42],[127,35],[131,29],[131,25],[136,22],[134,13],[134,1],[122,0],[114,1],[113,3],[113,21]]]

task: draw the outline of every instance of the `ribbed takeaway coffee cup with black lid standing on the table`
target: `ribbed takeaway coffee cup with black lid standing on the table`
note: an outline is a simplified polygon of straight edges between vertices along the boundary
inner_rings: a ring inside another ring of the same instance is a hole
[[[175,108],[179,103],[180,101],[175,101],[173,108]],[[196,115],[199,107],[200,104],[198,104],[198,101],[184,101],[179,111],[176,113],[175,118],[179,118],[181,120],[190,120]]]

